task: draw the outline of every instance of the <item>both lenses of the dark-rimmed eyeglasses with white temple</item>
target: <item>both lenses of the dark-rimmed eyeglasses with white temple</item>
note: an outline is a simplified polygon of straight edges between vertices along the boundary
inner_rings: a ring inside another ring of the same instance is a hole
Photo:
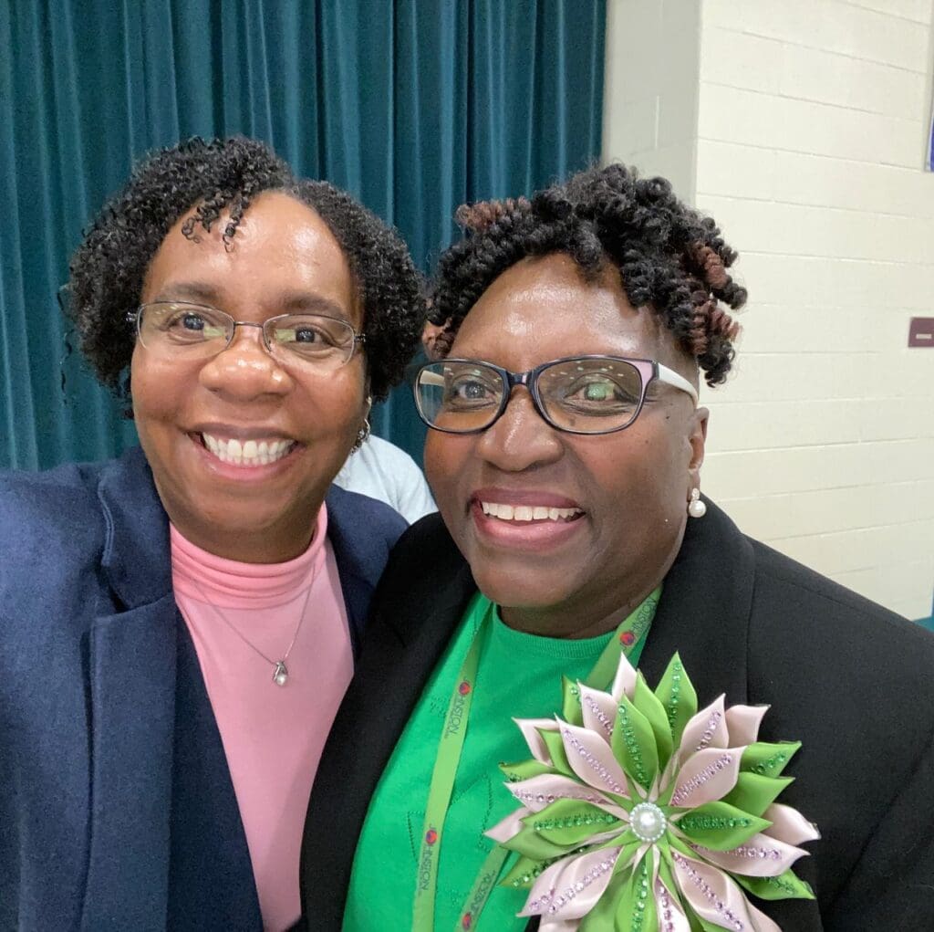
[[[422,417],[439,430],[483,430],[500,413],[507,384],[483,363],[443,360],[421,370],[416,384]],[[628,426],[639,411],[642,375],[610,358],[561,360],[539,370],[538,400],[547,420],[563,430],[602,434]]]

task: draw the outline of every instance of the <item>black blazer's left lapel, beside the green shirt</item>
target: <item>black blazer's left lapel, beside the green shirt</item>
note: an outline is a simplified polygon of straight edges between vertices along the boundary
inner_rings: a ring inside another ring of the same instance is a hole
[[[468,566],[411,618],[376,618],[318,765],[304,826],[302,901],[309,927],[339,930],[366,811],[396,741],[475,592]],[[423,614],[424,613],[424,614]],[[421,617],[419,617],[421,616]],[[403,639],[408,623],[414,633]]]

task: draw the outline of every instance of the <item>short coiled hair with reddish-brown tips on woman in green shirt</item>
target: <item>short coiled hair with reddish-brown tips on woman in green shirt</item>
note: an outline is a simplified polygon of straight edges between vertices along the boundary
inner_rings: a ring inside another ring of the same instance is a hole
[[[625,165],[591,168],[531,201],[464,205],[458,220],[469,235],[439,260],[428,328],[433,355],[446,355],[460,323],[507,268],[526,256],[565,252],[586,280],[607,262],[616,265],[630,304],[658,314],[708,384],[726,379],[739,324],[720,302],[736,309],[746,300],[727,273],[736,252],[666,179],[642,179]]]

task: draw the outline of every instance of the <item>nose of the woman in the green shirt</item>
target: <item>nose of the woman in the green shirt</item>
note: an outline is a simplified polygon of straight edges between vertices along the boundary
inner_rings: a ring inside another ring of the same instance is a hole
[[[500,419],[480,437],[477,450],[503,472],[521,472],[557,462],[564,445],[532,401],[528,389],[517,385]]]

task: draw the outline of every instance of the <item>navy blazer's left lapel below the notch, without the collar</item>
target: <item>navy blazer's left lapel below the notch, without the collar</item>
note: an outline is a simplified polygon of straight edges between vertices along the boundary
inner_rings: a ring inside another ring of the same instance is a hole
[[[165,927],[175,612],[170,594],[100,617],[91,632],[91,852],[81,927],[94,932]]]

